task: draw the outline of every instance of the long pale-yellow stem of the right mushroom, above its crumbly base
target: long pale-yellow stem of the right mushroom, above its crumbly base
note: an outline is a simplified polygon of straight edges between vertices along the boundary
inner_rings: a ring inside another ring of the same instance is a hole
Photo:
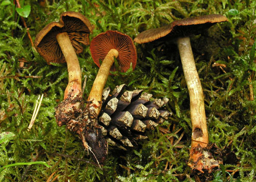
[[[177,40],[183,72],[190,99],[190,118],[192,123],[191,150],[194,147],[207,147],[208,131],[204,110],[204,95],[197,73],[197,68],[192,53],[189,37]],[[192,153],[190,152],[190,158]]]

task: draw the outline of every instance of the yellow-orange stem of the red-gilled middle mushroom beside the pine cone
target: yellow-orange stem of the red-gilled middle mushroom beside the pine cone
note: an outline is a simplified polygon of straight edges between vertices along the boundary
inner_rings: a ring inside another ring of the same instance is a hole
[[[114,63],[114,57],[117,58],[118,55],[119,53],[116,49],[111,49],[109,51],[109,53],[102,61],[98,74],[94,80],[88,101],[91,101],[90,106],[94,106],[94,112],[96,113],[96,116],[99,115],[101,109],[102,92],[106,84],[106,80],[108,80],[111,66]]]

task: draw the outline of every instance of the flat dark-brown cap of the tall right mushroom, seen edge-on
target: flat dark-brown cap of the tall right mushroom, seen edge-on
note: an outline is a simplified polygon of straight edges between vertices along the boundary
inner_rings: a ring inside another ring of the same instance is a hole
[[[190,17],[173,21],[169,25],[145,30],[138,34],[134,39],[137,43],[147,43],[168,35],[169,38],[187,36],[196,34],[204,29],[210,28],[218,22],[228,21],[228,19],[220,14],[210,14],[199,17]]]

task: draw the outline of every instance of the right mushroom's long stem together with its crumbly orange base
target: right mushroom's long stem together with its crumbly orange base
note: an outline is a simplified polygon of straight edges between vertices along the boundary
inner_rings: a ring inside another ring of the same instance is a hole
[[[215,161],[211,157],[211,153],[206,150],[209,141],[203,89],[197,73],[189,37],[178,38],[177,44],[190,99],[192,136],[188,165],[202,173],[203,170],[210,172],[212,168],[218,167],[220,162]]]

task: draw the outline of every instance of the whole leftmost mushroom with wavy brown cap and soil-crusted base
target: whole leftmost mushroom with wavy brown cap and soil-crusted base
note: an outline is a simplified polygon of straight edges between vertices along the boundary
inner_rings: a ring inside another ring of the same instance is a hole
[[[56,108],[55,118],[58,126],[68,122],[69,117],[80,108],[81,70],[76,54],[82,52],[82,46],[89,45],[89,34],[93,28],[90,21],[77,12],[65,12],[59,22],[51,22],[35,38],[38,53],[48,64],[67,62],[69,83],[65,90],[64,101]]]

